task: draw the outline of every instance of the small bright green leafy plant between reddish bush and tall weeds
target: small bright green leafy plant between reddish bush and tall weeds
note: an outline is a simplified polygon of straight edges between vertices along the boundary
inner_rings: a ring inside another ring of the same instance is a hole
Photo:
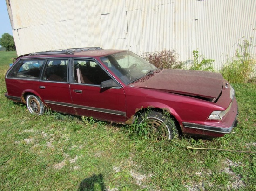
[[[213,69],[213,62],[214,60],[212,59],[205,59],[203,55],[199,56],[199,51],[198,49],[193,51],[193,63],[192,66],[189,68],[190,70],[203,70],[203,71],[212,71],[214,72]],[[199,60],[202,58],[202,61],[199,62]]]

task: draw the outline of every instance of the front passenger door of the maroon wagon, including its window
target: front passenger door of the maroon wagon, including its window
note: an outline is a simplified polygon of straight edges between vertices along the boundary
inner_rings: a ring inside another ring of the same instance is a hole
[[[74,83],[70,91],[78,115],[113,122],[125,122],[126,106],[123,88],[100,88],[103,81],[112,79],[95,60],[73,59]]]

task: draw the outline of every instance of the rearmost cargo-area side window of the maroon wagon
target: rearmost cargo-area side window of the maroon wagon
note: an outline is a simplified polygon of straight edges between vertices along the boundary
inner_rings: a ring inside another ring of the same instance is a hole
[[[24,78],[39,78],[41,67],[44,60],[23,60],[20,61],[20,67],[14,69],[14,72],[10,72],[10,76],[24,77]]]

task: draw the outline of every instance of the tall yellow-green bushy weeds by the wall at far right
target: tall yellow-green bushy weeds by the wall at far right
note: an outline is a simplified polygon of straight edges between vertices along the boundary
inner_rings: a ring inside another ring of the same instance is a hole
[[[243,38],[242,43],[237,45],[235,56],[227,59],[220,70],[223,77],[230,83],[248,82],[255,70],[256,59],[250,53],[255,48],[252,45],[252,37],[249,40]]]

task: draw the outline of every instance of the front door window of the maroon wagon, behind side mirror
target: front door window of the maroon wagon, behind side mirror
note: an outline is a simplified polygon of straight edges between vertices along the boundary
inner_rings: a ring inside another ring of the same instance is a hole
[[[100,85],[101,82],[110,80],[111,77],[92,60],[74,60],[74,82]]]

